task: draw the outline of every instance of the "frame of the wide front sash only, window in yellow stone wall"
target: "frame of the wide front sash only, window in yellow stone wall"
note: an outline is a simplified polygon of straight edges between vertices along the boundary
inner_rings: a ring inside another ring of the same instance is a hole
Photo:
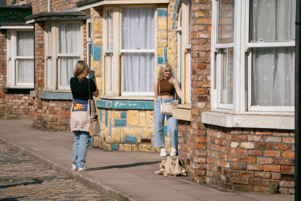
[[[154,8],[154,33],[155,33],[155,39],[154,39],[154,48],[153,49],[121,49],[122,47],[122,34],[123,33],[123,29],[122,29],[122,9],[123,8],[145,8],[145,7],[148,7],[148,8],[151,8],[153,7]],[[154,53],[154,58],[155,58],[155,61],[156,61],[156,58],[157,58],[157,55],[156,55],[156,50],[157,50],[157,6],[156,5],[122,5],[122,6],[119,6],[119,20],[120,20],[120,26],[119,26],[119,55],[121,56],[121,88],[120,88],[120,91],[121,91],[121,96],[155,96],[155,92],[127,92],[127,91],[123,91],[123,53],[125,52],[137,52],[137,53],[146,53],[146,52],[153,52]],[[154,65],[156,65],[156,62],[154,62]],[[155,71],[156,71],[156,68],[154,68]],[[155,73],[155,72],[153,72]],[[156,76],[155,76],[156,78]],[[151,87],[153,88],[153,87]]]

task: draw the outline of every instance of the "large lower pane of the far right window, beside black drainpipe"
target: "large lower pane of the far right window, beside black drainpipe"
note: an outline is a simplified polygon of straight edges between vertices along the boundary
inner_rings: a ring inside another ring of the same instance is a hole
[[[252,49],[252,105],[294,106],[295,47]]]

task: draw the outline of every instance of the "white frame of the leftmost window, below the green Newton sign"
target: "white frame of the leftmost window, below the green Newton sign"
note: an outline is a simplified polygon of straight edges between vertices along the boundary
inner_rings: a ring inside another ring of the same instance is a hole
[[[8,27],[10,28],[10,27]],[[33,31],[32,26],[14,27],[7,30],[7,85],[9,88],[29,88],[33,89],[33,83],[18,82],[17,59],[34,59],[33,56],[17,56],[17,32],[18,31]],[[33,66],[34,71],[34,66]],[[33,75],[33,79],[35,79]]]

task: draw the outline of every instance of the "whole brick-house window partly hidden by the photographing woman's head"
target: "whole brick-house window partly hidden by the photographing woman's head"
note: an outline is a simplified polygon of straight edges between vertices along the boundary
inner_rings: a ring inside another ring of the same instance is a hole
[[[70,90],[69,80],[83,59],[82,21],[45,23],[45,65],[48,90]]]

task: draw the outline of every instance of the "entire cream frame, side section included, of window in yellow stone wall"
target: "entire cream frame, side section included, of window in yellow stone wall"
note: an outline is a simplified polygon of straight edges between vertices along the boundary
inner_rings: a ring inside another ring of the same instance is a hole
[[[153,7],[154,8],[154,16],[155,16],[155,23],[154,23],[154,33],[155,33],[155,44],[154,44],[154,49],[121,49],[121,44],[122,44],[122,8],[126,7],[137,7],[137,8],[143,8],[143,7]],[[104,11],[106,9],[112,8],[112,5],[109,5],[107,7],[103,8],[103,16],[104,16]],[[103,18],[103,24],[106,24],[105,19]],[[103,79],[103,90],[102,90],[102,95],[106,98],[112,97],[112,98],[125,98],[125,97],[132,97],[132,99],[149,99],[151,96],[154,96],[154,92],[123,92],[123,86],[122,86],[122,74],[123,74],[123,53],[124,52],[154,52],[154,58],[155,61],[157,59],[157,5],[156,4],[135,4],[135,5],[113,5],[113,50],[107,50],[106,49],[106,44],[107,44],[107,35],[106,35],[106,26],[103,26],[103,46],[102,48],[104,49],[103,51],[103,60],[102,64],[105,68],[103,68],[102,73],[104,74],[105,79]],[[107,66],[105,64],[105,57],[107,53],[112,53],[113,58],[112,58],[112,63],[113,63],[113,91],[107,91],[107,83],[112,82],[112,80],[109,80],[107,77]],[[157,77],[157,68],[156,68],[156,62],[154,62],[154,75]],[[153,87],[152,87],[153,88]]]

